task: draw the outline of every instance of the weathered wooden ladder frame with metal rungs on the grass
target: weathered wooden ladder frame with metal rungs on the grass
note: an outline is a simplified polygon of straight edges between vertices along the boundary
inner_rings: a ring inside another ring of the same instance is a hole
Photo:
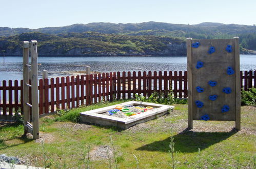
[[[23,41],[23,108],[24,108],[24,134],[31,133],[33,139],[39,139],[39,111],[38,111],[38,66],[37,66],[37,41]],[[29,46],[31,63],[29,65]],[[31,67],[31,76],[29,75]],[[31,79],[29,78],[31,77]],[[31,80],[31,83],[30,83]],[[31,104],[29,93],[31,92]],[[30,111],[31,110],[31,111]],[[30,123],[30,112],[32,112],[32,124]]]

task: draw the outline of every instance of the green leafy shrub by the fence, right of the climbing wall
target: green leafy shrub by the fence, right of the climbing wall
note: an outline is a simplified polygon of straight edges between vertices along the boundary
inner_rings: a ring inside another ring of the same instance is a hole
[[[256,106],[256,88],[251,88],[249,91],[241,92],[241,105]]]

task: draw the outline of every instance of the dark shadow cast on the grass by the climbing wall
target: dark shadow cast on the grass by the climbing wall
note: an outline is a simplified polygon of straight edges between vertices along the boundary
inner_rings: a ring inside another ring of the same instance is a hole
[[[175,143],[174,149],[175,151],[180,151],[182,153],[198,152],[198,148],[204,150],[215,143],[229,138],[235,133],[237,133],[237,131],[234,129],[230,132],[193,132],[185,130],[173,136]],[[168,137],[165,140],[143,145],[136,150],[168,152],[170,149],[169,143],[170,138]]]

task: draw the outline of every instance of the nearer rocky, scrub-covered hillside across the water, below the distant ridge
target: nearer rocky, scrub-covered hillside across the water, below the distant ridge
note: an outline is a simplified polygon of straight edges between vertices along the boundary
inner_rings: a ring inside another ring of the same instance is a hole
[[[22,55],[22,41],[36,39],[41,56],[185,56],[185,41],[160,36],[128,36],[97,32],[51,35],[22,33],[0,38],[0,55]]]

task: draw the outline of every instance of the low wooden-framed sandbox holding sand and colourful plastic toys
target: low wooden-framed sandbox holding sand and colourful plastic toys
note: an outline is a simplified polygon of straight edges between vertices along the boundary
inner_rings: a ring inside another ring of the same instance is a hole
[[[126,112],[122,112],[122,110],[117,113],[111,113],[111,110],[115,110],[116,107],[130,109],[130,111],[128,112],[135,112],[135,109],[138,109],[140,111],[136,111],[134,114],[130,116],[125,115]],[[146,107],[150,108],[145,110]],[[173,105],[163,105],[140,101],[128,101],[121,104],[111,105],[105,108],[82,112],[80,113],[80,117],[82,122],[108,126],[117,126],[122,129],[127,129],[132,125],[146,122],[159,116],[163,116],[166,113],[170,112],[173,108]],[[145,111],[143,112],[142,110]],[[111,115],[108,111],[110,111]]]

